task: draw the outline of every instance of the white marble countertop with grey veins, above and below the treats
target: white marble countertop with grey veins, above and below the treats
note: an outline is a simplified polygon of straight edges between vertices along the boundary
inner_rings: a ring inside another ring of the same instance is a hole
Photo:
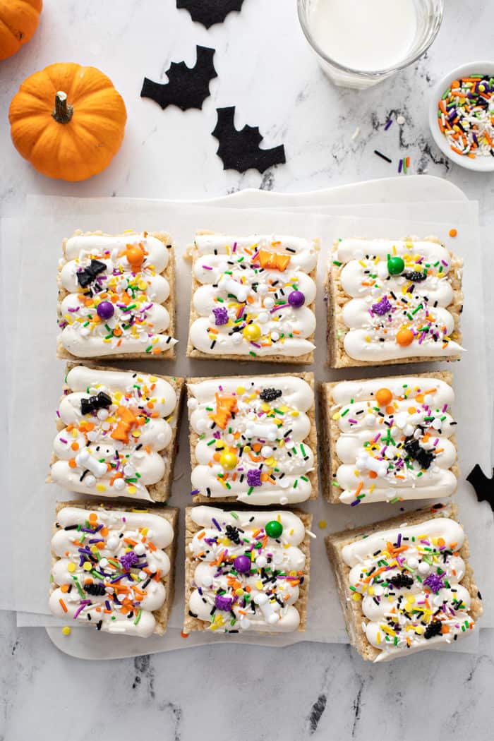
[[[487,0],[479,0],[474,13],[461,0],[448,1],[424,58],[354,93],[324,78],[298,27],[295,0],[244,0],[241,14],[209,31],[176,10],[174,0],[44,0],[36,36],[0,64],[1,110],[21,81],[47,64],[94,64],[124,96],[126,136],[101,175],[56,182],[19,158],[1,116],[0,214],[21,213],[27,193],[190,199],[244,187],[315,190],[391,176],[398,159],[410,156],[411,172],[447,178],[477,199],[482,223],[490,226],[494,177],[461,170],[441,156],[427,128],[426,103],[449,68],[489,59],[493,22]],[[203,110],[163,111],[139,97],[144,76],[164,80],[170,62],[193,64],[196,44],[216,49],[218,78]],[[236,105],[237,127],[257,125],[265,146],[284,144],[286,165],[264,175],[222,169],[210,131],[216,107],[229,105]],[[405,124],[394,122],[384,132],[388,117],[398,114]],[[237,645],[235,651],[216,645],[84,662],[57,651],[42,629],[18,630],[13,614],[0,612],[0,632],[2,741],[34,734],[113,741],[143,733],[175,741],[199,734],[216,741],[252,734],[259,740],[364,740],[376,727],[404,740],[425,728],[431,738],[490,735],[494,631],[481,631],[477,656],[428,651],[379,667],[362,662],[349,646],[310,643],[281,650]]]

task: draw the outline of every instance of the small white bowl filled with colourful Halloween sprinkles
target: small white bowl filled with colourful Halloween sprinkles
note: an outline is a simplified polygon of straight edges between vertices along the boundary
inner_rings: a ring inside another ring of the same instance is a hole
[[[470,62],[448,73],[429,108],[435,143],[455,165],[494,170],[494,62]]]

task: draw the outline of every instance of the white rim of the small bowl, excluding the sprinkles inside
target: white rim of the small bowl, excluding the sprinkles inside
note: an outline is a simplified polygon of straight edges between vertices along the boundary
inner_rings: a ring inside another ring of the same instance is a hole
[[[456,67],[455,70],[448,72],[447,75],[441,79],[441,82],[438,82],[438,84],[435,85],[429,105],[429,126],[435,143],[438,145],[441,152],[451,160],[451,162],[454,162],[455,165],[460,165],[460,167],[466,167],[467,170],[476,170],[479,173],[490,173],[494,171],[493,156],[480,156],[473,159],[467,157],[467,155],[453,152],[446,136],[444,136],[444,133],[442,133],[441,129],[438,127],[438,102],[441,100],[447,88],[450,87],[450,82],[475,74],[494,77],[494,62],[469,62],[469,64],[462,64],[461,67]]]

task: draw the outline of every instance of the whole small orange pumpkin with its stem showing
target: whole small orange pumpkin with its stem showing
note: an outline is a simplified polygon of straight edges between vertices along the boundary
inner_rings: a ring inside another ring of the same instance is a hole
[[[9,110],[16,150],[43,175],[85,180],[119,151],[127,111],[96,67],[51,64],[21,84]]]

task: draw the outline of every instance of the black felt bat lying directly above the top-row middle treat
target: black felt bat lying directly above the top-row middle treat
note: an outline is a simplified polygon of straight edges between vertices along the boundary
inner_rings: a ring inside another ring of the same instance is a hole
[[[224,170],[237,170],[244,173],[254,167],[264,173],[268,167],[282,165],[287,162],[284,156],[284,146],[280,144],[272,149],[259,149],[262,136],[257,126],[244,126],[236,130],[233,123],[235,106],[217,108],[218,122],[213,130],[213,136],[218,139],[218,156],[223,162]]]

